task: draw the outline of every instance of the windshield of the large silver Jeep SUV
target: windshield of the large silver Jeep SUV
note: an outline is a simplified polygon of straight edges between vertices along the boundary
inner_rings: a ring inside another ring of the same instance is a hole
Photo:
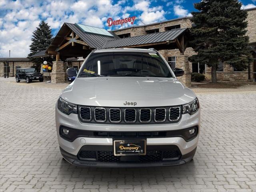
[[[156,53],[106,52],[92,53],[78,77],[92,76],[172,77],[172,74]]]

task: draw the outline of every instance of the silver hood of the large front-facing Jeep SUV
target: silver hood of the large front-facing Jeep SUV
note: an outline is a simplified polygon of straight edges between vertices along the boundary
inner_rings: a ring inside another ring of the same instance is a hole
[[[133,107],[174,106],[196,98],[192,90],[174,78],[88,77],[76,78],[61,97],[71,103],[87,106]]]

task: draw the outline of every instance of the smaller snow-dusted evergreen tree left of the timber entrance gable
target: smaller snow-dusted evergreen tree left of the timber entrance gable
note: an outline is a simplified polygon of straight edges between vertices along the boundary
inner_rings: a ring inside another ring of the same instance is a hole
[[[42,51],[46,50],[50,43],[52,42],[52,30],[48,23],[44,22],[43,20],[40,22],[39,26],[33,32],[32,35],[32,43],[30,45],[30,53],[28,57]],[[30,58],[34,63],[41,64],[42,60],[40,58]]]

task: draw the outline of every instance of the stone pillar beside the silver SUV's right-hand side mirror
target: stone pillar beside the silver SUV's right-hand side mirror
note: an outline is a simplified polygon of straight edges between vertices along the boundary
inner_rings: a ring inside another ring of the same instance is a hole
[[[176,68],[182,68],[185,72],[183,76],[177,77],[187,87],[191,87],[191,71],[188,62],[188,56],[178,55],[176,56]]]

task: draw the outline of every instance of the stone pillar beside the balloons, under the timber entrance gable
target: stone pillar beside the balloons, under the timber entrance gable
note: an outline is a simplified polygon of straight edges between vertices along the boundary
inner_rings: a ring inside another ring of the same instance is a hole
[[[67,64],[63,61],[52,62],[51,82],[64,83],[66,81]]]

